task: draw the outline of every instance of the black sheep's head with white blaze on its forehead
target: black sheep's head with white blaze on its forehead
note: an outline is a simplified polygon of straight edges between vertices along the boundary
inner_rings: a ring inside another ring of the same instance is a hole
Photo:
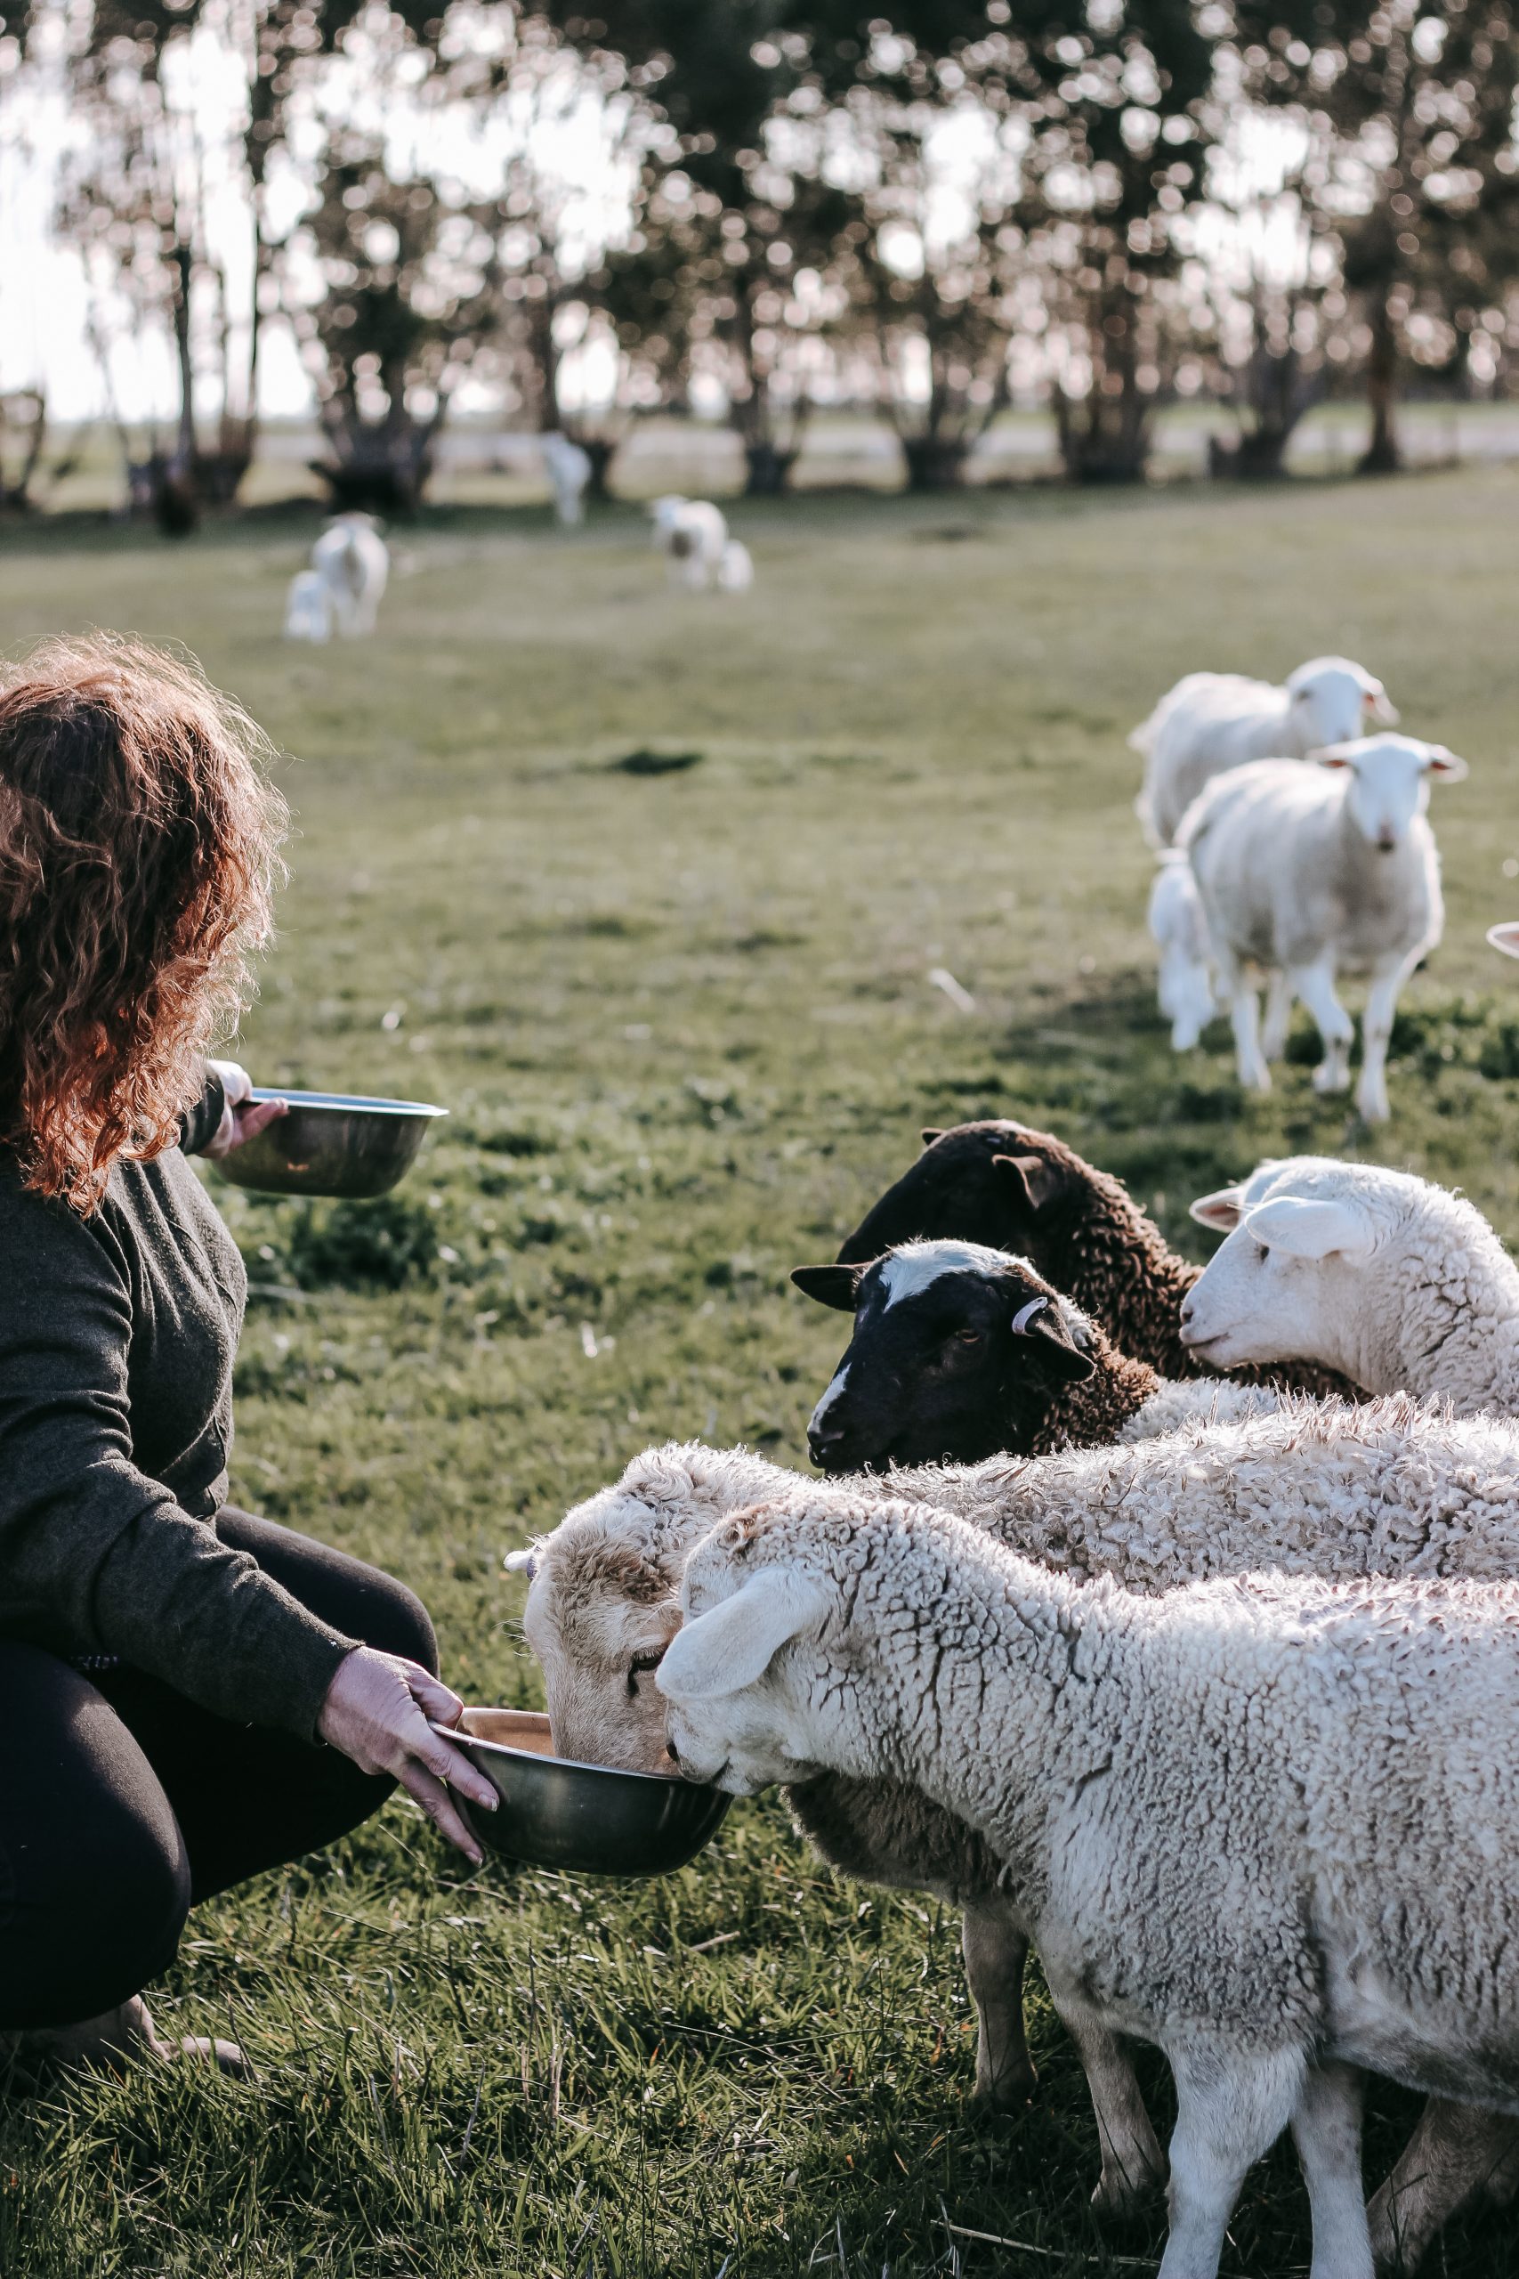
[[[854,1338],[806,1433],[824,1472],[1018,1454],[1059,1388],[1091,1377],[1050,1285],[975,1244],[906,1244],[865,1269],[797,1267],[793,1281],[854,1304]]]

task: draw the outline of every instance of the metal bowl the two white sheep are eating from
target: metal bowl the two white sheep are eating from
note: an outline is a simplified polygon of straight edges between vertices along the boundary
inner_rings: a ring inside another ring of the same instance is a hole
[[[733,1803],[720,1789],[663,1773],[619,1773],[553,1755],[549,1718],[528,1709],[465,1709],[437,1725],[501,1796],[476,1812],[481,1844],[531,1867],[583,1876],[667,1876],[717,1832]]]

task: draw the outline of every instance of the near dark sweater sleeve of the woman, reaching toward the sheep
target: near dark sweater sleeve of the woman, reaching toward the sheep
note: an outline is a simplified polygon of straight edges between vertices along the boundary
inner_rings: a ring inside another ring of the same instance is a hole
[[[358,1643],[132,1461],[125,1260],[50,1206],[7,1226],[0,1308],[0,1611],[64,1652],[121,1655],[239,1725],[312,1739]],[[20,1256],[16,1256],[20,1251]]]

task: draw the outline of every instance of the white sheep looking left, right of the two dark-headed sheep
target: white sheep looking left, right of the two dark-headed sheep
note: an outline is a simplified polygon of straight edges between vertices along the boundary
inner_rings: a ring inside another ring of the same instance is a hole
[[[1202,1365],[1291,1345],[1369,1392],[1519,1415],[1519,1267],[1476,1203],[1410,1171],[1289,1155],[1191,1208],[1227,1233],[1182,1306]]]

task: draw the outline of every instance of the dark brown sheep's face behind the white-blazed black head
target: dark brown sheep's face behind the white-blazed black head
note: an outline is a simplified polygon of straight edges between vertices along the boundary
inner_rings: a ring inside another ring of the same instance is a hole
[[[1007,1119],[956,1124],[925,1140],[911,1171],[845,1240],[843,1265],[922,1240],[984,1242],[1027,1258],[1041,1274],[1057,1267],[1082,1196],[1059,1140]]]

